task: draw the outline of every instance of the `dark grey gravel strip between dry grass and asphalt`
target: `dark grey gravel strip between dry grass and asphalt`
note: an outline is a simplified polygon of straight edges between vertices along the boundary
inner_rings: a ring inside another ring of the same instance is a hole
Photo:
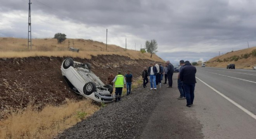
[[[137,88],[59,134],[57,139],[137,139],[159,101],[159,92]]]

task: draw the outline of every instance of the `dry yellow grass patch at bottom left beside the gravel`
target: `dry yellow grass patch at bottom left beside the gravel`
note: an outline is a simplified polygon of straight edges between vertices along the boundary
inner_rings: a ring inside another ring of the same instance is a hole
[[[1,139],[50,139],[99,110],[90,100],[66,100],[60,107],[47,106],[38,112],[28,107],[0,123]]]

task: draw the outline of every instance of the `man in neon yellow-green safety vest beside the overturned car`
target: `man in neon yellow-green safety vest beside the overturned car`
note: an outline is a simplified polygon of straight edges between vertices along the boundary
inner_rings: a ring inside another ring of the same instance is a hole
[[[123,87],[125,86],[125,77],[123,75],[121,75],[121,71],[118,71],[118,75],[116,75],[116,77],[114,78],[114,80],[112,82],[115,83],[115,87],[116,87],[115,102],[118,102],[121,100]]]

